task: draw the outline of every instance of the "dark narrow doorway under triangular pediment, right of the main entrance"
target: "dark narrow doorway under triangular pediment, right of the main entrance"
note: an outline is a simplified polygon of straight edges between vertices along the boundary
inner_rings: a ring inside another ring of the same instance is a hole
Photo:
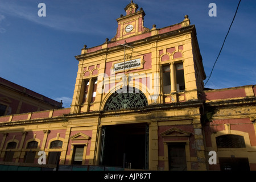
[[[168,144],[168,159],[170,171],[187,171],[185,143]]]

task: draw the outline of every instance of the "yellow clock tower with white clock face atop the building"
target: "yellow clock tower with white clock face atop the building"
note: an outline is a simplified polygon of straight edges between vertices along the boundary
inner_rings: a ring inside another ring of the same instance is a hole
[[[125,39],[130,36],[150,31],[149,28],[143,26],[145,15],[143,9],[141,8],[138,11],[137,10],[138,5],[133,1],[125,7],[126,15],[121,15],[120,18],[117,19],[117,34],[112,41]]]

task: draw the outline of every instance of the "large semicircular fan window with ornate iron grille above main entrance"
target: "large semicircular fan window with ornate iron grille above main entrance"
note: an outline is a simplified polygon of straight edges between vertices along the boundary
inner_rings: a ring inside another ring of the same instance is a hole
[[[127,86],[127,91],[117,90],[104,106],[104,110],[139,109],[147,106],[147,98],[141,90]]]

